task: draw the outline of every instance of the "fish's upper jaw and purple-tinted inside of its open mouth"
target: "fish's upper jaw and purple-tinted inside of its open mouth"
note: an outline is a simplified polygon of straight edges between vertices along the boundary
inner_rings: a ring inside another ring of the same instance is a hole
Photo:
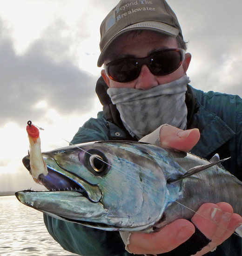
[[[45,158],[46,157],[44,157],[44,159]],[[81,196],[94,203],[100,201],[102,194],[97,185],[89,184],[87,181],[76,177],[73,173],[64,170],[54,159],[52,160],[55,162],[56,166],[53,168],[49,164],[46,164],[47,175],[39,175],[37,180],[39,184],[44,185],[49,192],[78,192]],[[25,156],[22,162],[31,174],[29,156]],[[30,190],[26,191],[30,192]]]

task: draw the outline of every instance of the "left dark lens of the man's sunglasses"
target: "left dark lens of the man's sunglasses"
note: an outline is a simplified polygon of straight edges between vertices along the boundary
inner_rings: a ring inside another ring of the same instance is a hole
[[[115,81],[126,83],[136,78],[138,64],[134,60],[120,60],[108,66],[108,75]]]

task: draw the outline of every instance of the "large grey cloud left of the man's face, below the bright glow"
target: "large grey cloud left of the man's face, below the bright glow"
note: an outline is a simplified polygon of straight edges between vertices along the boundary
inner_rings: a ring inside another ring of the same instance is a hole
[[[43,116],[47,109],[34,107],[41,100],[63,115],[92,107],[97,77],[82,71],[70,50],[74,40],[88,36],[87,31],[77,31],[77,38],[65,36],[67,24],[54,21],[25,53],[17,55],[3,28],[0,21],[0,125]]]

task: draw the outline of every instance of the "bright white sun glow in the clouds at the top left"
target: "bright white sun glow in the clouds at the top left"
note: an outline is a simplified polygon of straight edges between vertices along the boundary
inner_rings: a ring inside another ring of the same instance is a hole
[[[8,21],[14,47],[21,54],[54,20],[63,19],[69,26],[74,26],[83,15],[87,3],[87,0],[70,0],[68,3],[48,0],[8,0],[1,1],[0,15]]]

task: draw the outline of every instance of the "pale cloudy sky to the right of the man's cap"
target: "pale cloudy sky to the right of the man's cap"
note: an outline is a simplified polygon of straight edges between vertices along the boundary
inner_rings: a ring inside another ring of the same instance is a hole
[[[168,0],[177,14],[188,41],[192,61],[188,69],[191,84],[242,96],[241,1]]]

